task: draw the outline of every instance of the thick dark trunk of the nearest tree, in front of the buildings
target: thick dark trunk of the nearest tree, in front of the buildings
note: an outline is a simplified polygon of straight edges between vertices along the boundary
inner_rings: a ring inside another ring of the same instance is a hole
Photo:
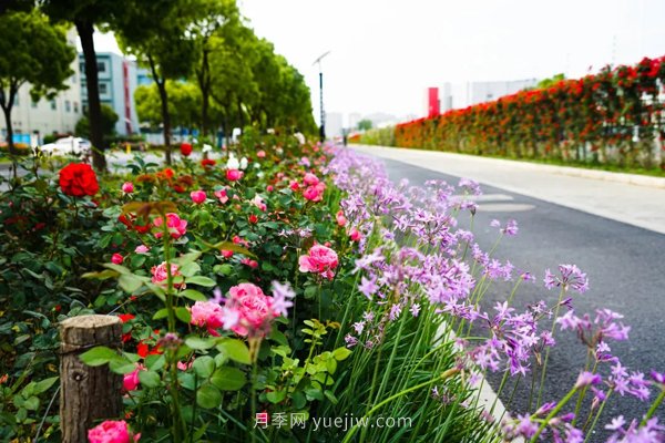
[[[88,119],[90,122],[90,143],[92,143],[92,165],[100,172],[106,171],[104,156],[104,134],[102,130],[102,104],[100,102],[100,85],[92,34],[94,28],[91,21],[74,21],[81,38],[83,58],[85,59],[85,82],[88,89]]]

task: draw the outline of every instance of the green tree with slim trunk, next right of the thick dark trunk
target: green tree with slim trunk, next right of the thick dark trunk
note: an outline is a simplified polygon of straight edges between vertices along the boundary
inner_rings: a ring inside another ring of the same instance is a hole
[[[192,21],[190,0],[127,0],[131,4],[117,23],[119,42],[143,65],[150,68],[160,93],[166,163],[171,164],[171,113],[167,80],[186,78],[195,58],[186,29]]]

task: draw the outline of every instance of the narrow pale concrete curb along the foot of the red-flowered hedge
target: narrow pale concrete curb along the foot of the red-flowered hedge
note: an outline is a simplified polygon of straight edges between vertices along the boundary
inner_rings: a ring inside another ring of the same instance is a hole
[[[635,186],[646,186],[665,189],[665,177],[651,177],[648,175],[638,174],[626,174],[615,173],[610,171],[596,171],[585,169],[582,167],[571,166],[554,166],[554,165],[539,165],[538,163],[521,162],[518,159],[504,159],[504,158],[492,158],[483,157],[480,155],[458,154],[449,153],[443,151],[433,150],[418,150],[411,147],[388,147],[388,146],[374,146],[374,145],[356,145],[364,148],[378,148],[378,150],[393,150],[403,152],[422,152],[422,153],[437,153],[443,158],[464,158],[472,162],[480,162],[495,165],[510,165],[511,167],[519,167],[528,171],[544,172],[550,174],[567,175],[572,177],[592,178],[606,182],[625,183]]]

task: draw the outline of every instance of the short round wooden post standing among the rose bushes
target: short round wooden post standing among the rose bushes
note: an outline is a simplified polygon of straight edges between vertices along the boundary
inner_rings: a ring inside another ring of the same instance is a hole
[[[79,356],[96,346],[120,349],[122,323],[112,316],[72,317],[60,323],[60,426],[63,443],[86,443],[100,419],[120,419],[122,375],[89,367]]]

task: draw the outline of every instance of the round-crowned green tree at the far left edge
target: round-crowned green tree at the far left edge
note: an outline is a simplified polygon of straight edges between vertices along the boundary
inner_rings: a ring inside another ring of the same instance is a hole
[[[64,83],[73,71],[70,65],[76,52],[68,45],[65,30],[53,25],[37,10],[6,12],[0,16],[0,29],[7,30],[0,39],[0,107],[7,124],[7,141],[14,153],[11,111],[19,87],[32,86],[30,94],[53,97],[68,89]]]

